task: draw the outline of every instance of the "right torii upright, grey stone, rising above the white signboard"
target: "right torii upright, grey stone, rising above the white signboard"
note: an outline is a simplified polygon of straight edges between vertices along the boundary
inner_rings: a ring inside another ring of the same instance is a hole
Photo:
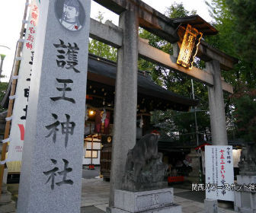
[[[228,145],[226,116],[222,92],[222,80],[219,62],[206,62],[206,69],[213,75],[213,87],[208,87],[210,124],[213,145]]]

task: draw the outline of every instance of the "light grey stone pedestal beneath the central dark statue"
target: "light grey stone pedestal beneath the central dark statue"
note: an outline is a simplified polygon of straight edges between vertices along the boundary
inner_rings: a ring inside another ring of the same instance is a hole
[[[144,192],[114,190],[114,207],[111,213],[181,213],[181,205],[174,204],[172,188]]]

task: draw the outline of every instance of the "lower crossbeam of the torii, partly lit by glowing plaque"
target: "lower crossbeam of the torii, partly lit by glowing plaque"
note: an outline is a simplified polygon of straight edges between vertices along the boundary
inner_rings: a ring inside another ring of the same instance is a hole
[[[117,48],[122,46],[122,29],[114,24],[102,24],[91,19],[90,37]],[[189,75],[191,78],[201,81],[203,84],[213,86],[213,75],[199,68],[194,67],[191,70],[188,70],[187,68],[177,65],[175,62],[171,61],[171,57],[173,56],[162,52],[160,49],[150,46],[141,38],[139,38],[139,56],[143,59],[149,60],[150,62],[154,62],[166,68],[171,68],[177,72]],[[225,81],[222,81],[222,89],[223,91],[227,91],[231,94],[233,93],[232,85],[226,83]]]

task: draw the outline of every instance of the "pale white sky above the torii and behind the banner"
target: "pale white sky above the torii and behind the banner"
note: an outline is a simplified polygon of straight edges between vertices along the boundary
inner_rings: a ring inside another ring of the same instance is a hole
[[[52,0],[51,0],[52,1]],[[82,1],[82,0],[80,0]],[[90,0],[85,0],[90,1]],[[9,50],[6,55],[2,75],[6,75],[6,78],[2,78],[1,81],[9,81],[11,75],[11,68],[14,61],[14,53],[16,49],[16,43],[20,37],[22,19],[24,16],[26,0],[0,0],[0,46],[8,46]],[[196,10],[200,17],[203,17],[205,21],[212,21],[208,8],[204,3],[204,0],[142,0],[146,4],[155,8],[161,13],[165,13],[166,8],[174,2],[182,2],[184,8],[187,11]],[[209,2],[209,1],[208,1]],[[118,25],[118,15],[106,8],[98,5],[96,2],[91,2],[91,17],[98,16],[98,11],[101,11],[104,16],[104,21],[107,19]],[[2,52],[0,52],[2,53]]]

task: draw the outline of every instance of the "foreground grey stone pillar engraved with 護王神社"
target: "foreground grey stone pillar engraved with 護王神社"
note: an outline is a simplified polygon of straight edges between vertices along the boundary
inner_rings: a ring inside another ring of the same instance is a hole
[[[81,208],[91,1],[79,1],[74,24],[64,21],[63,1],[56,2],[44,0],[34,8],[39,19],[18,213],[78,213]],[[31,34],[32,28],[27,29]]]

